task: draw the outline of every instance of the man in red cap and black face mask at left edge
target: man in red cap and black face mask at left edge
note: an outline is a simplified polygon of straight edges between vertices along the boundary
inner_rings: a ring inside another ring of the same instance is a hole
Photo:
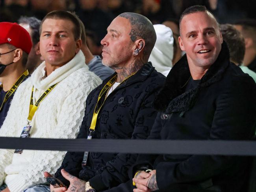
[[[29,33],[17,23],[0,22],[0,127],[14,92],[28,77],[26,62],[32,48]]]

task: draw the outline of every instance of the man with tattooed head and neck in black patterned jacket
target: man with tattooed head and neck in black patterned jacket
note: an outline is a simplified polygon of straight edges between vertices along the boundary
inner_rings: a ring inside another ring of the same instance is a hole
[[[143,15],[122,13],[111,22],[101,41],[102,63],[115,73],[87,97],[78,138],[148,137],[157,114],[152,103],[165,81],[148,62],[155,42],[154,27]],[[55,174],[67,188],[50,189],[107,190],[128,181],[128,169],[136,159],[136,154],[67,152]]]

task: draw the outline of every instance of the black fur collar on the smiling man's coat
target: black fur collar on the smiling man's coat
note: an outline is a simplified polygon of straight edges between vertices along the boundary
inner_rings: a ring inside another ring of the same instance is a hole
[[[229,50],[226,43],[223,42],[217,60],[210,66],[206,74],[204,74],[197,87],[187,92],[182,92],[182,87],[191,76],[187,57],[184,55],[169,72],[165,85],[154,102],[155,109],[167,114],[188,111],[195,104],[200,89],[219,81],[228,64]]]

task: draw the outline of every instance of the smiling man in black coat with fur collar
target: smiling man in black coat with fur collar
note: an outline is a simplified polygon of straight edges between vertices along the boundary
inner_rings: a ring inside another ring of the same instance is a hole
[[[256,84],[230,63],[216,19],[204,6],[189,7],[180,32],[186,55],[154,102],[159,113],[149,138],[249,140],[255,134]],[[134,192],[246,191],[250,166],[249,157],[140,155],[132,168]],[[152,171],[137,172],[147,169]],[[124,191],[124,185],[110,191]]]

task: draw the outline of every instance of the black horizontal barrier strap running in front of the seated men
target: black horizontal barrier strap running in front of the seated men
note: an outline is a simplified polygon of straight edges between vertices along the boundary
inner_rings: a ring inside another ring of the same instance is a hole
[[[2,149],[91,151],[105,153],[256,156],[256,141],[124,140],[0,137]]]

